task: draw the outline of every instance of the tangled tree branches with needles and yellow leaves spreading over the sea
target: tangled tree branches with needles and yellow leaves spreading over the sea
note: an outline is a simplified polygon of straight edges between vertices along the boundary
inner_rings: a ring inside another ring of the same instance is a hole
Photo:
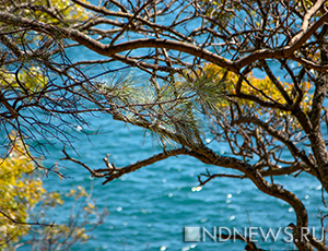
[[[4,153],[20,144],[34,168],[61,176],[27,151],[46,155],[60,144],[59,159],[103,184],[187,155],[216,167],[199,170],[199,187],[220,177],[236,187],[248,179],[294,210],[295,222],[282,227],[290,226],[298,250],[328,250],[325,238],[304,238],[306,206],[279,181],[313,177],[326,206],[327,1],[0,2]],[[104,166],[85,165],[68,151],[68,129],[97,113],[151,132],[162,152],[122,167],[109,154],[99,156]],[[212,142],[229,144],[230,153],[220,154]],[[1,168],[11,158],[3,156]],[[323,215],[317,226],[325,228],[325,220]],[[248,250],[258,249],[245,241]]]

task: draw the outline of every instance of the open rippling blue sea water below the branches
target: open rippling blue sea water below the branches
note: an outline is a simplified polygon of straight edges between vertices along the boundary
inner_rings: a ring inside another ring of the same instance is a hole
[[[92,168],[103,168],[106,154],[116,166],[121,167],[159,153],[161,150],[151,135],[136,127],[126,127],[114,121],[110,116],[102,115],[90,128],[77,127],[71,133],[80,141],[75,147],[81,160]],[[82,132],[99,133],[87,139]],[[213,145],[216,152],[229,154],[224,145]],[[50,165],[62,157],[60,148],[52,150],[46,164]],[[230,172],[223,168],[208,167],[190,157],[172,157],[161,163],[143,167],[118,180],[102,186],[103,180],[91,179],[89,172],[80,166],[60,162],[67,169],[61,169],[67,179],[49,175],[44,179],[49,190],[65,193],[77,186],[92,189],[95,205],[106,207],[109,215],[105,224],[93,230],[93,238],[72,250],[243,250],[243,241],[213,241],[208,236],[206,241],[185,242],[184,227],[204,227],[210,232],[213,228],[238,229],[254,227],[279,228],[295,223],[295,214],[286,203],[272,199],[261,192],[247,179],[218,178],[196,191],[197,176],[209,168],[210,171]],[[306,174],[297,179],[281,177],[280,182],[295,192],[307,206],[312,227],[319,228],[317,215],[321,208],[321,187]],[[194,188],[194,189],[192,189]],[[54,218],[66,220],[73,202],[68,201],[57,210]],[[257,229],[258,228],[258,229]],[[263,241],[258,236],[260,247],[272,250],[293,250],[293,244],[281,232],[277,241],[270,238]],[[263,229],[265,231],[265,229]]]

